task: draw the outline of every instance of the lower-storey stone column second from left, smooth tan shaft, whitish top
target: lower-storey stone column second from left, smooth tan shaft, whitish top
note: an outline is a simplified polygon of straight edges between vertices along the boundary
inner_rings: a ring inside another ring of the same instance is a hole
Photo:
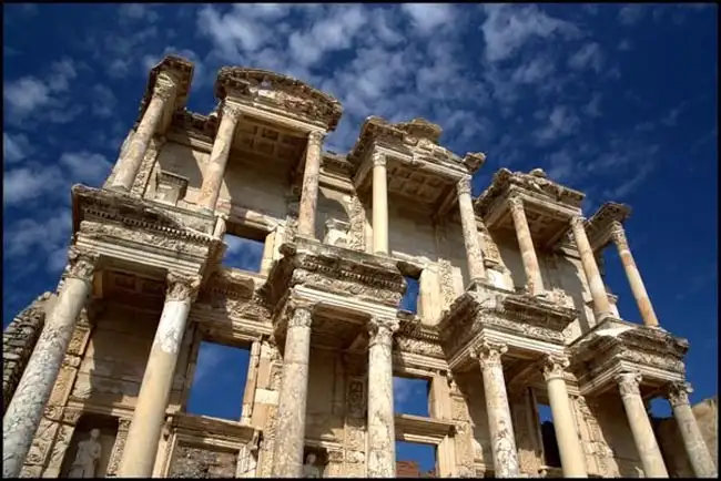
[[[196,276],[167,274],[165,305],[128,430],[118,469],[120,478],[149,478],[153,473],[187,314],[199,287],[200,278]]]

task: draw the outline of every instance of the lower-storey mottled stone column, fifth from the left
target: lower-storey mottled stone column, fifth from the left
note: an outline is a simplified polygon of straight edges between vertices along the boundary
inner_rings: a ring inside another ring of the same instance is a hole
[[[500,357],[508,350],[504,344],[483,341],[471,356],[480,365],[486,395],[490,450],[494,458],[496,478],[518,478],[518,450],[510,417],[504,367]]]

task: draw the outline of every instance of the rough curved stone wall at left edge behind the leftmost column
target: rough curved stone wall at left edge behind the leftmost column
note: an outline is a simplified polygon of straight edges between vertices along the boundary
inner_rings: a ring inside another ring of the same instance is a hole
[[[2,332],[2,412],[8,409],[45,321],[50,293],[24,308]]]

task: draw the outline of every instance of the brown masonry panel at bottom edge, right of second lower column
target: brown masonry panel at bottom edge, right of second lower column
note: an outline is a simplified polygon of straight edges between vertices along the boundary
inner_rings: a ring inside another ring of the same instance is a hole
[[[235,478],[237,451],[207,444],[179,442],[167,478]]]

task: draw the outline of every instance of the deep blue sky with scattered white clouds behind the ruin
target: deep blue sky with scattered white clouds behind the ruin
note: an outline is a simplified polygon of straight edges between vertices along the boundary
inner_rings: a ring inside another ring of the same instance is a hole
[[[57,286],[70,186],[102,184],[149,69],[176,53],[195,62],[192,111],[215,105],[220,66],[274,70],[341,100],[328,150],[347,152],[368,115],[423,116],[457,154],[487,154],[475,195],[500,167],[541,167],[587,194],[587,216],[631,205],[626,229],[659,320],[691,345],[691,399],[714,396],[717,22],[713,4],[6,3],[3,326]],[[257,252],[235,242],[229,263]],[[639,321],[618,256],[605,258],[621,316]],[[243,362],[207,352],[205,366]],[[410,410],[425,402],[414,389],[398,382]],[[196,409],[236,416],[201,398]],[[653,411],[669,413],[663,401]]]

